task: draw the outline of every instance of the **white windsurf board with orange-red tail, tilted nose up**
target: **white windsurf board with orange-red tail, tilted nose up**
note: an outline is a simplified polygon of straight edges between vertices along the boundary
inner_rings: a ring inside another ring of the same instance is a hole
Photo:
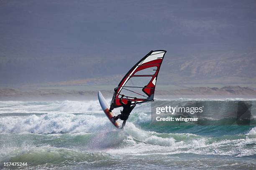
[[[110,112],[109,111],[109,108],[108,108],[108,103],[107,101],[105,100],[105,98],[103,97],[103,95],[101,94],[100,91],[98,91],[98,100],[100,102],[100,106],[102,108],[102,110],[104,111],[105,115],[108,117],[108,119],[110,120],[110,122],[116,127],[116,128],[120,128],[120,122],[118,121],[115,121],[113,122],[111,120],[111,117],[113,117],[115,114],[113,112]]]

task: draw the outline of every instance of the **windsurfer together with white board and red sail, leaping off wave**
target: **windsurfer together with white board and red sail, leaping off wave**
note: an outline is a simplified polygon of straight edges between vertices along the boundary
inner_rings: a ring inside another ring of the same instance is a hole
[[[136,104],[154,101],[157,76],[165,53],[166,50],[150,51],[141,58],[141,60],[125,74],[118,86],[115,87],[110,107],[108,107],[108,103],[101,92],[98,92],[100,106],[116,128],[120,128],[120,123],[116,121],[118,119],[123,120],[122,128],[124,128],[126,120]],[[120,95],[122,97],[120,97]],[[126,98],[123,98],[124,96]],[[138,99],[135,96],[139,96]],[[133,101],[134,104],[132,105]],[[124,102],[127,102],[127,104]],[[121,114],[114,116],[115,114],[112,110],[118,107],[123,107],[123,111],[121,111]]]

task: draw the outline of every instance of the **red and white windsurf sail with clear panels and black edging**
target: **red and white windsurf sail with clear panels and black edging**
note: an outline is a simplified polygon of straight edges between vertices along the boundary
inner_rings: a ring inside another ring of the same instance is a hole
[[[115,88],[110,110],[122,106],[119,102],[121,95],[124,95],[122,101],[125,104],[127,100],[133,103],[135,97],[137,103],[154,101],[157,75],[165,53],[165,50],[151,51],[127,72]]]

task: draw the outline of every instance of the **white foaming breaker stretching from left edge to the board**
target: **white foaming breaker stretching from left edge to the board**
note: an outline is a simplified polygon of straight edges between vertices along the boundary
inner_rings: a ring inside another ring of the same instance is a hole
[[[103,115],[104,116],[104,115]],[[0,133],[79,133],[110,127],[107,117],[49,113],[40,116],[0,117]]]

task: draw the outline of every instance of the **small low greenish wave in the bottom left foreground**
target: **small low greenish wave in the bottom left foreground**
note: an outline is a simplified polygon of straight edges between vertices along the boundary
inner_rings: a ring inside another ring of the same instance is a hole
[[[61,164],[64,165],[77,162],[100,163],[108,160],[111,165],[114,161],[111,155],[107,153],[83,152],[67,148],[55,147],[30,147],[30,148],[13,148],[1,162],[27,162],[28,166],[40,164]],[[0,167],[1,163],[0,162]],[[63,164],[64,163],[64,164]],[[3,166],[3,165],[2,165]]]

